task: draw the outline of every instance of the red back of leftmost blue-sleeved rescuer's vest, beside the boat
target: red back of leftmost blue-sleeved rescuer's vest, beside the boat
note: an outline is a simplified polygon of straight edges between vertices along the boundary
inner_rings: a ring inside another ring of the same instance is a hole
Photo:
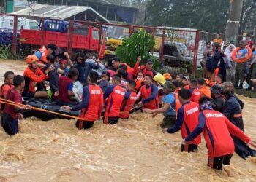
[[[103,107],[103,92],[98,85],[89,85],[89,103],[87,108],[81,110],[80,118],[86,122],[94,122],[99,119]],[[83,122],[80,122],[83,127]]]

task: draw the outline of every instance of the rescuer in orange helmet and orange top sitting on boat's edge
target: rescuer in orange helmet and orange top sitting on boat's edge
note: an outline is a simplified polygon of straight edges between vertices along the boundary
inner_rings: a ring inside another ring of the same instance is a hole
[[[22,93],[23,97],[28,98],[47,98],[48,93],[44,90],[40,90],[41,82],[43,82],[46,78],[46,75],[49,71],[54,70],[54,65],[49,66],[45,71],[42,71],[38,67],[38,58],[36,55],[28,55],[26,57],[26,63],[28,66],[26,67],[23,76],[25,79],[25,87]],[[37,87],[37,91],[36,91]]]

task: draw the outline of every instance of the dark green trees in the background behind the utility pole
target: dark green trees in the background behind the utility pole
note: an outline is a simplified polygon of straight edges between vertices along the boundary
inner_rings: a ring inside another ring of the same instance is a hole
[[[150,0],[146,24],[225,33],[229,7],[230,0]],[[255,7],[255,0],[245,1],[242,28],[253,29]]]

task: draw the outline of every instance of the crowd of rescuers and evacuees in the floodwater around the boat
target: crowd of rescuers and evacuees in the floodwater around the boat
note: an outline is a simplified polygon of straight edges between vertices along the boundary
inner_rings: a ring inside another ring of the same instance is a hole
[[[211,83],[183,74],[174,78],[170,73],[154,71],[150,59],[142,65],[140,57],[134,68],[119,58],[113,58],[105,68],[96,55],[79,52],[72,62],[67,52],[56,50],[55,45],[49,44],[27,56],[23,76],[7,71],[1,98],[15,103],[22,103],[22,97],[69,103],[75,99],[75,82],[80,82],[80,103],[61,107],[64,111],[80,110],[81,120],[75,124],[79,129],[93,127],[98,119],[103,119],[104,124],[117,124],[119,118],[129,119],[131,112],[151,113],[153,117],[162,113],[163,132],[181,130],[181,151],[197,151],[203,132],[210,167],[222,170],[222,164],[229,165],[234,149],[244,158],[256,155],[253,150],[252,154],[244,154],[236,142],[234,145],[233,140],[241,140],[256,147],[244,134],[243,102],[234,95],[233,83],[222,82],[221,74],[214,76]],[[45,82],[49,82],[49,90]],[[31,106],[1,104],[1,126],[8,134],[18,132],[18,119],[23,117],[24,109]]]

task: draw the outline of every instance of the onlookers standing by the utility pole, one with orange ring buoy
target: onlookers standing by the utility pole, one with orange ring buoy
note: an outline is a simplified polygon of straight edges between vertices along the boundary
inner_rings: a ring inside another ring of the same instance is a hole
[[[248,33],[246,39],[240,41],[238,46],[223,44],[219,34],[212,43],[206,42],[203,51],[203,78],[211,82],[214,75],[221,74],[223,81],[233,82],[236,89],[256,90],[256,84],[253,82],[253,79],[256,79],[256,44]],[[233,52],[238,48],[236,58],[233,58]],[[247,84],[244,84],[245,80]]]

